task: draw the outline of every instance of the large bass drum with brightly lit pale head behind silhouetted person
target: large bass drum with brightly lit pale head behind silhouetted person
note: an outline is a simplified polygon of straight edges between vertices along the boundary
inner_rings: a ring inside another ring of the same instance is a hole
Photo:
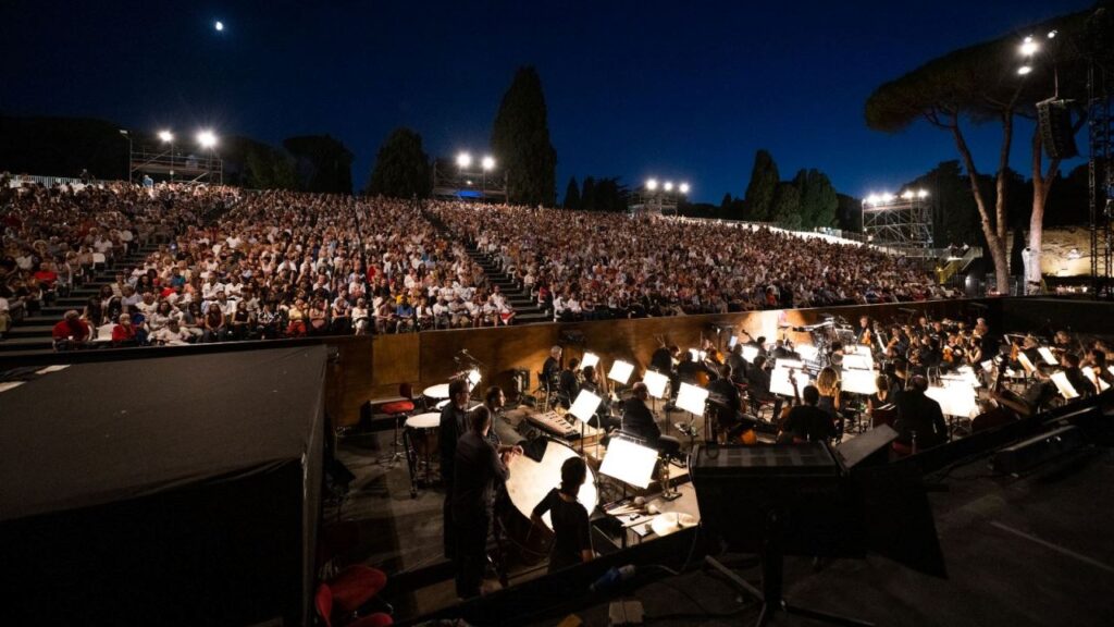
[[[549,556],[553,543],[553,522],[549,512],[541,517],[545,530],[531,529],[530,512],[534,507],[554,488],[560,486],[560,466],[565,460],[578,456],[569,445],[547,440],[546,452],[540,462],[535,462],[526,455],[519,456],[510,466],[510,478],[507,480],[507,496],[509,504],[499,510],[499,522],[507,540],[511,543],[511,552],[526,565],[534,565]],[[577,501],[588,510],[588,515],[599,504],[596,492],[596,480],[588,466],[588,474],[577,494]]]

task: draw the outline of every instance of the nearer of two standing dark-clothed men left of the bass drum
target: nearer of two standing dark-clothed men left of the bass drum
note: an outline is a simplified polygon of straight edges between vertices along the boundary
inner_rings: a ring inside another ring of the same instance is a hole
[[[457,442],[452,483],[452,527],[457,551],[457,596],[467,599],[480,594],[487,566],[487,538],[496,483],[510,476],[509,465],[517,453],[496,451],[487,440],[491,413],[477,407],[468,415],[468,432]]]

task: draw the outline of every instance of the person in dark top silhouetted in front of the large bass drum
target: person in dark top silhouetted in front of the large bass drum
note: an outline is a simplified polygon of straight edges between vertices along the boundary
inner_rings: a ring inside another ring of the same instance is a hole
[[[560,466],[560,488],[550,490],[530,513],[530,521],[538,527],[545,525],[541,517],[546,512],[549,512],[553,522],[554,544],[549,552],[549,572],[590,561],[595,557],[588,510],[576,500],[587,476],[583,457],[565,460]]]

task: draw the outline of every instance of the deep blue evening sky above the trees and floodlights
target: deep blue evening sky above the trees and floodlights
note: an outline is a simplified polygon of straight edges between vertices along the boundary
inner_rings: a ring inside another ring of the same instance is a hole
[[[570,175],[657,175],[686,179],[694,200],[717,203],[743,193],[759,147],[783,179],[817,167],[853,195],[956,158],[950,136],[924,124],[869,131],[867,96],[936,56],[1089,2],[3,6],[0,113],[190,136],[212,126],[276,144],[330,133],[355,153],[362,186],[399,125],[421,133],[431,155],[482,152],[515,69],[530,64],[549,105],[559,193]],[[1013,155],[1023,172],[1029,128]],[[971,132],[980,170],[993,171],[998,137]]]

